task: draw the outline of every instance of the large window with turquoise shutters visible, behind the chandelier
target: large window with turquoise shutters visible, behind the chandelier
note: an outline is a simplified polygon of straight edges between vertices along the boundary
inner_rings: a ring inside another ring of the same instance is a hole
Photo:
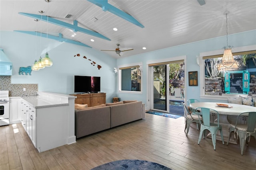
[[[256,51],[233,52],[234,60],[240,67],[226,72],[220,72],[216,66],[222,55],[202,57],[204,65],[201,65],[203,68],[201,96],[256,94]]]

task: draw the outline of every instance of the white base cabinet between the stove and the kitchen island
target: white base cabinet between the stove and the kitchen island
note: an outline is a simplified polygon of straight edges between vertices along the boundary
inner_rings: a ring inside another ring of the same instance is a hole
[[[10,98],[10,124],[20,123],[20,98]]]

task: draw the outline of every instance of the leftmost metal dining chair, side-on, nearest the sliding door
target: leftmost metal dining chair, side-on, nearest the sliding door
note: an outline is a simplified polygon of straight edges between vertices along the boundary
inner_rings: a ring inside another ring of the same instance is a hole
[[[200,124],[200,121],[203,121],[202,119],[202,116],[198,116],[196,114],[192,115],[189,113],[188,111],[188,107],[185,106],[185,104],[182,102],[182,106],[183,106],[183,109],[184,109],[184,118],[185,118],[185,133],[186,133],[186,136],[188,136],[188,131],[189,131],[189,128],[190,128],[190,124],[191,123],[199,123]],[[186,131],[187,129],[187,131]]]

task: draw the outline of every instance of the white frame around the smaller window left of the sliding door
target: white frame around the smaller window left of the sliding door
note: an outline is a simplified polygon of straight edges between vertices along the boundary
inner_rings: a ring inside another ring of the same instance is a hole
[[[140,69],[140,91],[129,91],[122,90],[122,68],[130,68],[130,67],[138,67]],[[124,64],[118,66],[118,93],[128,93],[128,94],[142,94],[142,84],[143,84],[143,76],[142,76],[142,63],[133,63],[133,64]]]

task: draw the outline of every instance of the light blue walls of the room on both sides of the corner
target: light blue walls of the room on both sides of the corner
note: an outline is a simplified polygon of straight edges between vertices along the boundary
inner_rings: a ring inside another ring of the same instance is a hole
[[[196,35],[195,35],[196,36]],[[256,44],[256,30],[229,35],[229,45],[234,47],[241,47],[246,45]],[[113,97],[119,97],[120,100],[139,100],[146,103],[147,96],[147,61],[154,61],[157,59],[166,59],[178,56],[187,56],[186,71],[198,71],[200,68],[196,64],[196,56],[201,52],[220,50],[226,45],[226,36],[205,41],[198,41],[176,47],[170,47],[158,51],[152,51],[131,57],[120,59],[113,59],[112,57],[96,51],[95,49],[73,45],[70,43],[61,43],[55,40],[42,38],[42,45],[40,48],[40,38],[37,44],[36,56],[36,36],[26,35],[12,31],[0,31],[0,48],[10,60],[13,62],[13,76],[12,83],[18,84],[38,84],[39,91],[57,92],[61,94],[73,94],[73,76],[89,75],[100,76],[101,91],[106,92],[107,102],[112,102]],[[33,64],[34,60],[39,58],[39,54],[46,52],[44,49],[48,47],[49,57],[53,60],[52,67],[44,70],[32,71],[31,76],[18,75],[18,70],[22,66]],[[148,49],[150,50],[150,49]],[[74,55],[80,53],[80,57]],[[96,64],[102,66],[100,70],[96,66],[92,66],[88,60],[92,59]],[[118,93],[117,76],[114,73],[114,67],[125,64],[142,63],[142,94],[126,94]],[[200,79],[198,80],[200,84]],[[187,85],[187,98],[200,99],[200,86]]]

